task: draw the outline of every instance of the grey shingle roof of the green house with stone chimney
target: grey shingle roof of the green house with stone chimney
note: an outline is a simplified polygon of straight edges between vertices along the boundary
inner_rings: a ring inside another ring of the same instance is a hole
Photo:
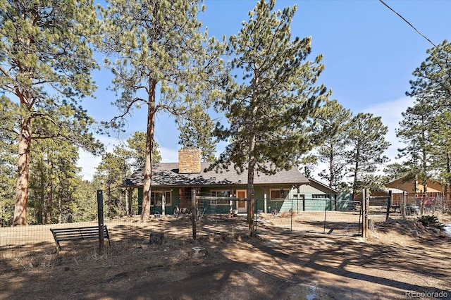
[[[211,163],[201,163],[201,172],[192,174],[179,174],[178,163],[153,163],[152,182],[154,187],[180,187],[199,185],[245,185],[247,184],[247,173],[237,173],[236,170],[209,170]],[[254,185],[307,185],[309,179],[302,175],[299,170],[281,170],[275,175],[256,173]],[[122,187],[142,187],[144,185],[144,168],[139,168],[128,177]]]

